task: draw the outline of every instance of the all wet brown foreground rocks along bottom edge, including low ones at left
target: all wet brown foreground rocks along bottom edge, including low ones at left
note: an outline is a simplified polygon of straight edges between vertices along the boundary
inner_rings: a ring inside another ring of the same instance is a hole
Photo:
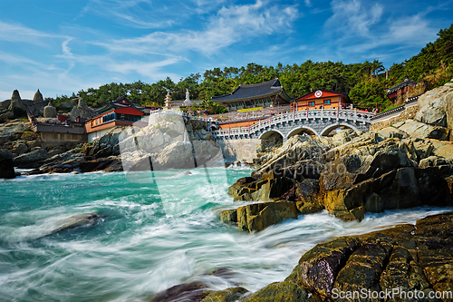
[[[203,302],[451,301],[452,238],[453,213],[429,216],[415,225],[320,243],[300,258],[284,281],[251,295],[242,287],[212,291],[203,285],[181,285],[151,301],[185,297]],[[355,298],[348,297],[354,292],[358,293]],[[382,299],[373,297],[382,293],[392,294]],[[418,298],[410,298],[411,295]]]

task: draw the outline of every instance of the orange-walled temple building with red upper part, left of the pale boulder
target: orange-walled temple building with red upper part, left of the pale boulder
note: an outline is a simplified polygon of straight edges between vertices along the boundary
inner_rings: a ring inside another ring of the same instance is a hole
[[[140,119],[144,115],[144,112],[140,111],[138,106],[124,96],[107,103],[96,112],[95,117],[85,121],[88,141],[93,141],[102,134],[109,132],[113,127],[140,126]],[[148,122],[143,122],[142,126],[147,125]]]

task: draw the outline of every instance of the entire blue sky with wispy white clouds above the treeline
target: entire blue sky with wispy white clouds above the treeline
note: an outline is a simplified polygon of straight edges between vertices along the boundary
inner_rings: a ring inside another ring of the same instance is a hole
[[[0,100],[14,89],[55,97],[252,62],[389,68],[452,16],[453,0],[1,0]]]

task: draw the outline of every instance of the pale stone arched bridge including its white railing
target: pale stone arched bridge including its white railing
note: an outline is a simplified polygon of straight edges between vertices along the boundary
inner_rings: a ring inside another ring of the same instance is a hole
[[[275,133],[283,141],[301,132],[312,132],[314,135],[327,135],[334,129],[344,126],[354,131],[368,132],[371,125],[371,112],[354,110],[310,110],[286,112],[256,122],[249,127],[222,129],[213,132],[217,139],[266,139]]]

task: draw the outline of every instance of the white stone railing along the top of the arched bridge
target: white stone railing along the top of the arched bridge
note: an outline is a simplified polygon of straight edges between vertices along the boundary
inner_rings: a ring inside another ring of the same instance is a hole
[[[327,120],[328,123],[332,120],[338,122],[340,120],[348,120],[352,122],[362,122],[362,123],[370,123],[371,118],[374,116],[372,112],[362,112],[358,111],[357,109],[353,110],[341,110],[337,111],[336,109],[327,109],[327,110],[309,110],[309,111],[300,111],[300,112],[286,112],[284,114],[279,114],[273,116],[272,118],[267,118],[256,122],[253,125],[248,127],[239,127],[239,128],[230,128],[230,129],[222,129],[213,132],[216,137],[223,137],[229,135],[236,135],[236,134],[251,134],[254,132],[258,132],[268,127],[272,127],[276,124],[283,123],[283,122],[291,122],[291,121],[302,121],[302,120],[316,120],[320,119],[322,121]],[[334,122],[331,122],[334,123]]]

